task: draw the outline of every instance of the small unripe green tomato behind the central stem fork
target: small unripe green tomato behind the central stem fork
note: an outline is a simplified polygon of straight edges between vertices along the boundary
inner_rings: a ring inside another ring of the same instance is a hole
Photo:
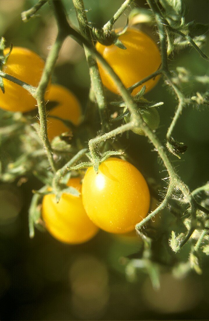
[[[127,108],[125,107],[123,112],[125,112],[126,109]],[[144,122],[149,126],[151,130],[158,128],[160,123],[160,117],[156,108],[151,107],[147,109],[140,109],[139,112],[142,115]],[[128,115],[124,119],[125,119],[125,122],[128,123],[130,120],[132,120],[132,118],[133,118],[132,116]],[[132,132],[138,135],[144,135],[144,131],[141,127],[133,128]]]

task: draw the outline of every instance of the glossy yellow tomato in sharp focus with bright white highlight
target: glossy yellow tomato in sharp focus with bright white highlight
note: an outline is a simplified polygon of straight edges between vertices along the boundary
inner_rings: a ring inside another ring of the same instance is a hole
[[[87,169],[82,199],[89,218],[111,233],[134,230],[150,207],[150,192],[140,171],[114,157],[99,166],[98,174]]]

